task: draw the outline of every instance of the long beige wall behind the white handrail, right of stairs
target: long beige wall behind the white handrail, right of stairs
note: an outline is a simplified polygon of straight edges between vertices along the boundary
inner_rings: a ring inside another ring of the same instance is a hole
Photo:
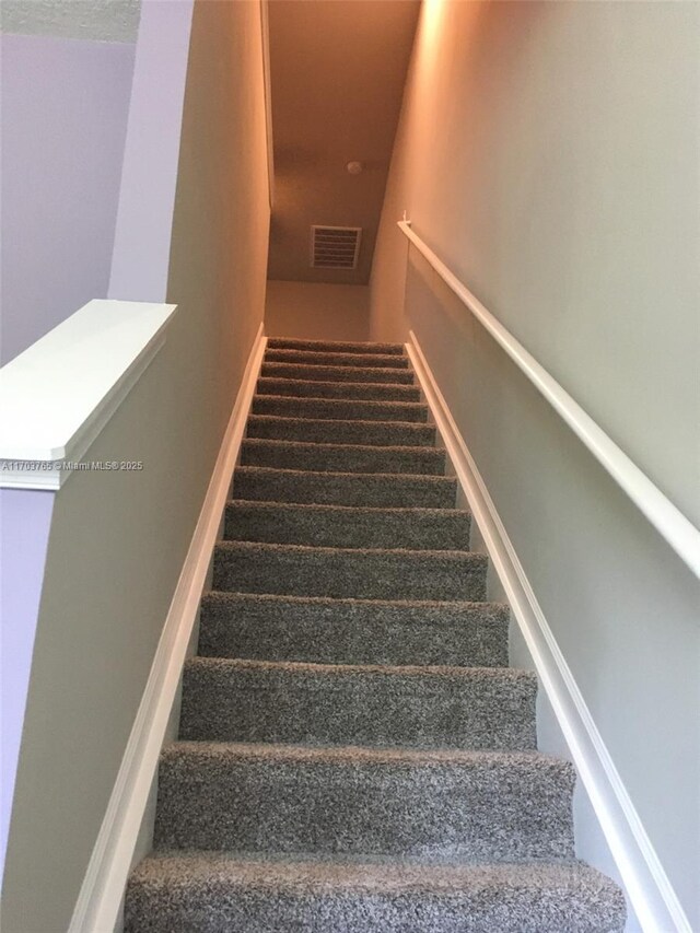
[[[697,581],[396,221],[697,522],[699,39],[697,4],[427,0],[371,281],[373,338],[417,333],[695,926]]]

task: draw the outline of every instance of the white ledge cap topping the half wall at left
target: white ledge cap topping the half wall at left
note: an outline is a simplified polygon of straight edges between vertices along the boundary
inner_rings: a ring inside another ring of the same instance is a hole
[[[60,462],[85,453],[165,342],[176,307],[96,299],[0,369],[0,487],[60,487],[71,471]]]

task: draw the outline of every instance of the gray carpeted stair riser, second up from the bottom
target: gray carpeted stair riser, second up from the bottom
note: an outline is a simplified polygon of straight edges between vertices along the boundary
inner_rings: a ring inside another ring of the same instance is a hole
[[[574,854],[565,762],[377,762],[187,748],[161,760],[156,849],[513,862]]]

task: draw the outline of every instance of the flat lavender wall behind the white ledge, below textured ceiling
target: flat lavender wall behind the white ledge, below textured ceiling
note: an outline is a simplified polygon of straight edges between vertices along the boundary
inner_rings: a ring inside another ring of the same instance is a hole
[[[107,296],[135,45],[37,35],[0,44],[7,363]]]

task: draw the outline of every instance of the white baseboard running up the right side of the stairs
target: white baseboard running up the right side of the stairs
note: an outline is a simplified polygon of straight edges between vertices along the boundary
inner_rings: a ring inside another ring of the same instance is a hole
[[[406,349],[639,923],[645,933],[692,933],[413,331]]]

